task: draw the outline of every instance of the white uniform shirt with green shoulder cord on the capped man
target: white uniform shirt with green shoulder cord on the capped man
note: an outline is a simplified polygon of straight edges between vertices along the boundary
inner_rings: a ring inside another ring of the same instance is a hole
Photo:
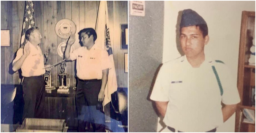
[[[206,57],[199,68],[193,68],[182,56],[162,65],[150,99],[168,101],[163,120],[167,126],[182,132],[207,132],[223,123],[221,102],[240,102],[232,79],[220,61]]]

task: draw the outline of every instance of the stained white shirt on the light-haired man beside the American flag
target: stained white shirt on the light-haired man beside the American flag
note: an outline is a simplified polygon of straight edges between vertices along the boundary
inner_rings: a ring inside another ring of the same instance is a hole
[[[44,56],[42,55],[41,48],[38,45],[36,47],[33,46],[29,41],[25,45],[29,45],[30,53],[21,65],[22,76],[31,77],[44,74]],[[12,64],[19,60],[22,55],[23,48],[20,48]]]

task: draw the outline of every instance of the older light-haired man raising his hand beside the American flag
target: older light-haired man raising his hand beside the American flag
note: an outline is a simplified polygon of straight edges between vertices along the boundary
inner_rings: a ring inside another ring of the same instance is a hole
[[[43,117],[45,103],[44,56],[38,46],[42,36],[37,27],[32,27],[26,31],[25,38],[28,42],[17,51],[12,63],[13,71],[21,68],[23,76],[23,120]]]

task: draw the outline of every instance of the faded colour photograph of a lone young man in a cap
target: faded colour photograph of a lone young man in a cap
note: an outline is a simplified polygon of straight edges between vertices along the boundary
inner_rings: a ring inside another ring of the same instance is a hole
[[[129,132],[255,132],[255,1],[129,1]]]

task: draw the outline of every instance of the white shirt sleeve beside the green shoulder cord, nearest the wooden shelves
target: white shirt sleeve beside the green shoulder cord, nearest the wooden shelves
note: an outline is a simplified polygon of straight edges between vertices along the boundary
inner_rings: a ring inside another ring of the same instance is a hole
[[[228,105],[239,103],[240,96],[236,86],[236,77],[233,76],[225,65],[223,65],[218,71],[220,72],[220,82],[223,89],[222,102]]]

